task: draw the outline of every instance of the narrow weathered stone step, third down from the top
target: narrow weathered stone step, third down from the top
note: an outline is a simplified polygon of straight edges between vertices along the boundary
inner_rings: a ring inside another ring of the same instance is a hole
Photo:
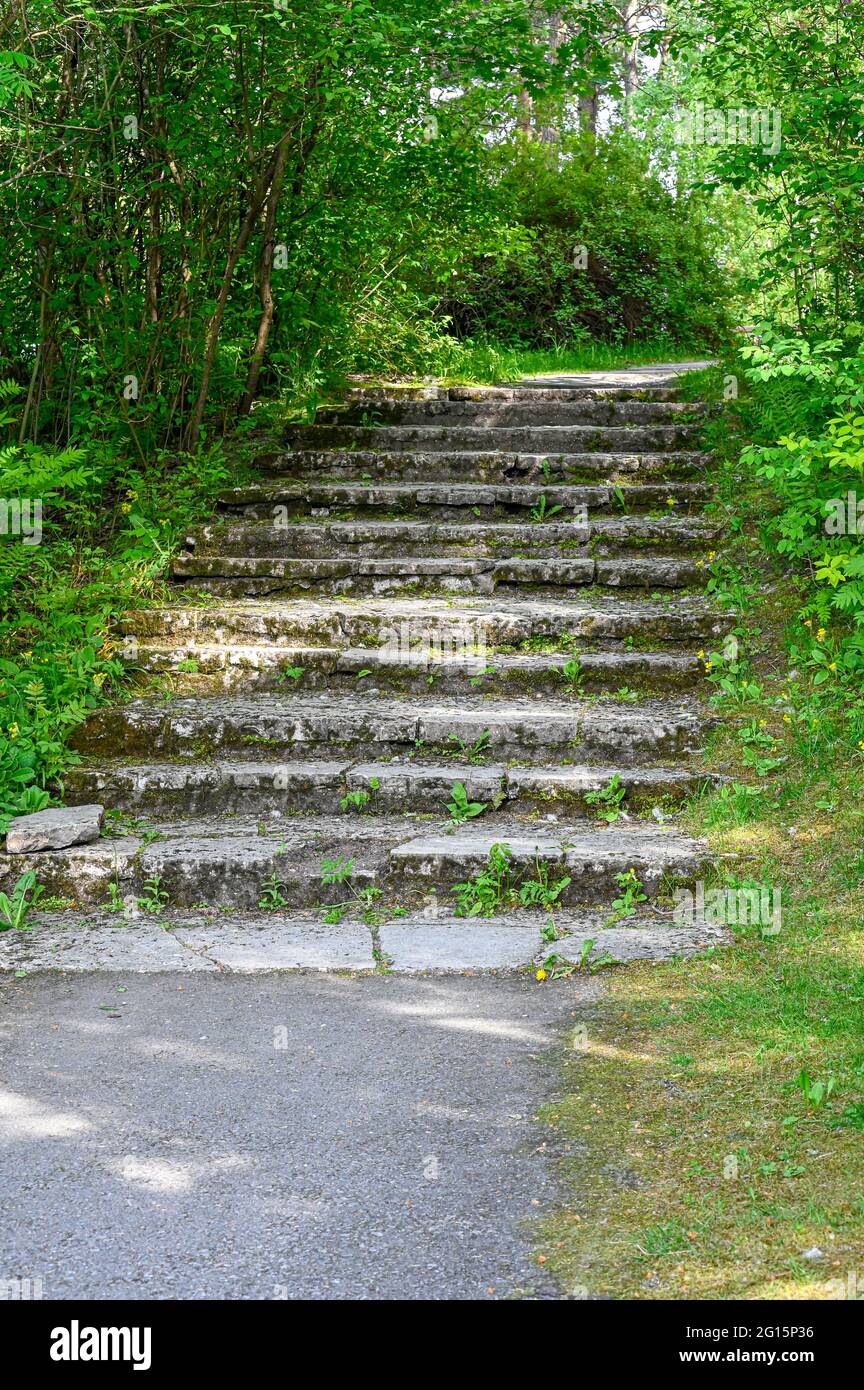
[[[651,453],[657,449],[695,449],[701,425],[293,425],[286,431],[292,449],[378,449],[415,453],[436,449],[497,449],[517,453],[585,453],[595,449]]]

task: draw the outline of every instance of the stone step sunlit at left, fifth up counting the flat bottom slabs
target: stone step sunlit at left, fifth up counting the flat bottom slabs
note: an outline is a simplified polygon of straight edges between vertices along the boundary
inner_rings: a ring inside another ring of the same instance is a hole
[[[399,641],[389,648],[256,646],[222,642],[133,644],[126,659],[143,671],[171,673],[190,694],[228,689],[353,689],[483,695],[549,694],[574,685],[565,673],[572,652],[499,653],[440,648],[411,651]],[[575,684],[586,694],[636,689],[686,691],[704,680],[696,655],[679,652],[581,651]],[[288,674],[290,673],[290,674]],[[575,674],[575,673],[574,673]]]

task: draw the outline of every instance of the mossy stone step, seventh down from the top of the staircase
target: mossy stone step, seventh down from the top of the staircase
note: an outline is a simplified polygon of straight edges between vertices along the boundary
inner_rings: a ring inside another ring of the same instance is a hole
[[[579,585],[681,589],[703,582],[690,559],[651,555],[649,559],[595,560],[585,555],[549,559],[468,560],[429,556],[346,556],[342,559],[286,559],[283,556],[178,555],[175,580],[231,598],[244,595],[318,594],[495,594],[526,587],[540,592]]]

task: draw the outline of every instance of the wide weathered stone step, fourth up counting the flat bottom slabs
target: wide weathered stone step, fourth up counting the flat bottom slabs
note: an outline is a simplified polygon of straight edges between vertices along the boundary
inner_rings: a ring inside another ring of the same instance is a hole
[[[115,758],[144,753],[215,758],[246,748],[271,756],[290,749],[360,748],[374,758],[418,748],[478,749],[483,758],[536,762],[570,756],[650,763],[697,752],[704,717],[672,701],[639,706],[614,701],[372,699],[338,694],[132,701],[96,710],[74,734],[78,749]],[[554,751],[554,752],[553,752]]]

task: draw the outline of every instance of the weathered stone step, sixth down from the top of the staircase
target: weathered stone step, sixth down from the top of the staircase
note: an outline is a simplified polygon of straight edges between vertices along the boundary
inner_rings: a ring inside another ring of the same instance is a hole
[[[186,546],[196,556],[440,556],[510,557],[524,550],[545,555],[574,555],[578,546],[595,543],[607,553],[632,546],[663,546],[672,550],[699,550],[717,541],[720,528],[701,517],[646,516],[592,517],[540,523],[481,521],[297,521],[289,525],[276,518],[265,521],[224,521],[196,527],[186,537]],[[578,553],[578,552],[576,552]]]

